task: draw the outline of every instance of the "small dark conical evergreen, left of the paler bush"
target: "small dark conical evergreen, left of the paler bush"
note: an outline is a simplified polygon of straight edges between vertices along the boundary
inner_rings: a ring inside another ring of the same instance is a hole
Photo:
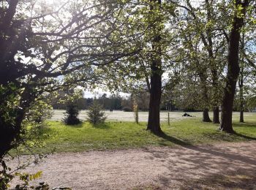
[[[78,106],[73,103],[69,103],[67,105],[67,110],[65,113],[64,123],[67,125],[77,125],[81,123],[80,119],[78,118],[79,110]]]

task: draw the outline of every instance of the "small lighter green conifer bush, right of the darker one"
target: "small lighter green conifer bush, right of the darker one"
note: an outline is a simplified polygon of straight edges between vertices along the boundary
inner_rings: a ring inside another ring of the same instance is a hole
[[[99,123],[104,123],[105,119],[105,112],[102,111],[103,107],[98,104],[96,101],[89,107],[89,112],[87,113],[88,121],[93,125],[97,125]]]

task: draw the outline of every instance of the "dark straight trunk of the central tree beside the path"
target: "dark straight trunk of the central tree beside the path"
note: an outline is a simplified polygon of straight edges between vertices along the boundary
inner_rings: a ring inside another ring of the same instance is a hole
[[[152,14],[156,7],[155,3],[161,4],[161,0],[151,0]],[[154,134],[160,134],[162,132],[160,127],[160,103],[162,95],[162,49],[161,49],[161,36],[160,31],[157,29],[156,20],[153,23],[149,23],[151,30],[154,33],[154,39],[152,40],[152,54],[151,54],[151,81],[150,81],[150,101],[149,101],[149,113],[148,113],[148,127],[147,130],[151,130]]]

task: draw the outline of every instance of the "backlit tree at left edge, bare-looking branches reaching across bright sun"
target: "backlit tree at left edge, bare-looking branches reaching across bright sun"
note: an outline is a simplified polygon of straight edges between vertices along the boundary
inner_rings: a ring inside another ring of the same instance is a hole
[[[62,87],[94,84],[96,66],[118,61],[131,50],[109,40],[115,1],[4,1],[0,5],[0,162],[23,140],[32,104]],[[102,11],[104,10],[104,11]],[[91,12],[91,14],[88,14]],[[61,19],[63,18],[63,19]],[[105,47],[105,50],[102,50]],[[83,82],[83,83],[82,83]]]

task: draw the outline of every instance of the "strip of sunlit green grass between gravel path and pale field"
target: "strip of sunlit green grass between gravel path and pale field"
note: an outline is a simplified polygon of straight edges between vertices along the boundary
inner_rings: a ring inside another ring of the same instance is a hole
[[[42,148],[34,148],[37,153],[106,150],[115,148],[140,148],[146,146],[174,146],[213,144],[216,142],[240,142],[256,140],[256,118],[250,115],[247,123],[234,121],[238,134],[226,134],[217,130],[218,125],[203,123],[200,118],[188,118],[167,126],[162,123],[165,135],[157,137],[146,131],[146,123],[107,122],[99,126],[82,123],[78,126],[65,126],[59,121],[48,121],[37,137],[44,142]],[[23,151],[23,153],[27,153]]]

